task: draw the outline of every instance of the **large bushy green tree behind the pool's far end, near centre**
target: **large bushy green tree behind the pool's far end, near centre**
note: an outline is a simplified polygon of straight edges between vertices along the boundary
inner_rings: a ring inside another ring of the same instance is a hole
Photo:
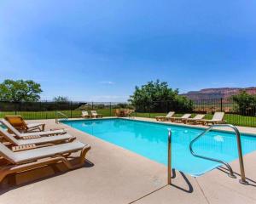
[[[192,111],[193,103],[185,96],[178,95],[177,89],[168,87],[167,82],[148,82],[136,87],[130,96],[131,105],[137,111]]]

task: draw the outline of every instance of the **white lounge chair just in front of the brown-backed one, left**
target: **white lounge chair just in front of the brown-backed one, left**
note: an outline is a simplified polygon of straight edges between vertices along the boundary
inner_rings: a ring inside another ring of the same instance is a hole
[[[49,130],[41,132],[32,132],[32,133],[20,133],[15,127],[13,127],[9,122],[4,119],[0,119],[0,122],[9,129],[11,133],[14,133],[17,138],[20,139],[30,139],[30,138],[39,138],[44,136],[53,136],[58,134],[67,133],[64,129],[59,130]]]

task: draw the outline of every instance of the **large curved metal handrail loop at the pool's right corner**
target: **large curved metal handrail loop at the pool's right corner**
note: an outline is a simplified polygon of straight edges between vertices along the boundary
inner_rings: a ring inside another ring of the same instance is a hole
[[[247,181],[246,181],[246,177],[245,177],[245,170],[244,170],[244,164],[243,164],[243,158],[242,158],[242,151],[241,151],[241,135],[240,135],[240,132],[239,130],[237,129],[237,127],[233,126],[233,125],[230,125],[230,124],[217,124],[217,125],[212,125],[211,127],[208,127],[203,133],[201,133],[200,135],[198,135],[197,137],[195,137],[195,139],[192,139],[192,141],[190,142],[189,144],[189,150],[191,152],[191,154],[193,156],[196,156],[196,157],[200,157],[202,159],[206,159],[206,160],[210,160],[210,161],[217,161],[219,163],[222,163],[224,164],[230,171],[230,174],[229,176],[231,178],[236,178],[232,168],[230,167],[230,165],[225,162],[225,161],[221,161],[221,160],[218,160],[218,159],[213,159],[213,158],[210,158],[210,157],[207,157],[207,156],[200,156],[200,155],[197,155],[195,154],[195,151],[193,150],[192,148],[192,145],[195,143],[195,141],[197,139],[200,139],[203,135],[205,135],[206,133],[210,132],[212,130],[212,128],[214,127],[230,127],[232,128],[235,133],[236,133],[236,142],[237,142],[237,149],[238,149],[238,156],[239,156],[239,165],[240,165],[240,172],[241,172],[241,179],[240,179],[240,183],[241,184],[247,184]]]

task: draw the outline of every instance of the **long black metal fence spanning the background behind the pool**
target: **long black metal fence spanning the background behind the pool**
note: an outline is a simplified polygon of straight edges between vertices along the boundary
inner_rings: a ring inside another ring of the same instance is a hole
[[[115,109],[134,109],[134,116],[155,117],[165,116],[169,111],[175,111],[177,116],[190,112],[206,114],[212,118],[216,111],[224,111],[224,119],[230,124],[256,127],[256,107],[239,107],[233,99],[197,99],[191,105],[178,106],[172,101],[151,101],[132,106],[126,102],[6,102],[0,101],[0,117],[6,115],[21,115],[25,119],[53,119],[56,111],[61,111],[70,118],[81,117],[81,111],[96,110],[103,116],[114,116]]]

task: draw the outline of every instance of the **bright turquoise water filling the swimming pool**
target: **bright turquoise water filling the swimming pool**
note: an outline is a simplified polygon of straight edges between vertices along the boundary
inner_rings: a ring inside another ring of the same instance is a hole
[[[219,163],[192,156],[189,143],[203,130],[155,122],[125,119],[100,119],[63,122],[99,139],[119,145],[148,159],[167,164],[167,128],[172,129],[172,167],[184,173],[199,176],[219,167]],[[256,135],[241,135],[243,154],[256,150]],[[234,133],[212,131],[193,145],[196,153],[224,161],[238,157]]]

